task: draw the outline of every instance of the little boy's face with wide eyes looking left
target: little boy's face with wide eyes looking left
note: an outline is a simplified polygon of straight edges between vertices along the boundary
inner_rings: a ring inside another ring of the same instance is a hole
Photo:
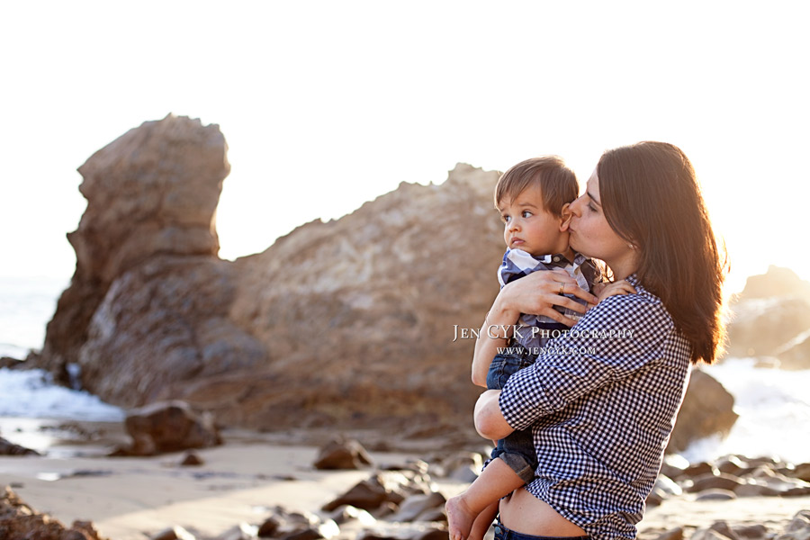
[[[530,186],[512,200],[499,202],[503,221],[503,240],[510,249],[523,249],[539,257],[564,253],[568,233],[561,230],[563,218],[543,208],[543,193]]]

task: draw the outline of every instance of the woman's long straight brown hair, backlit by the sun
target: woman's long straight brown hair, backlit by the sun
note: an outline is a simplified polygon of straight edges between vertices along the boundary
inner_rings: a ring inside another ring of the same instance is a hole
[[[689,340],[692,363],[713,363],[725,337],[726,260],[689,158],[668,143],[639,142],[605,152],[597,175],[608,224],[638,249],[639,282]]]

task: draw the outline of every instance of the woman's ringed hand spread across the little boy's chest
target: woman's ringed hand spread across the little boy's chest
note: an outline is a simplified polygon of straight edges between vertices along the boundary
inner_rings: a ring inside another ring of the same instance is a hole
[[[518,320],[520,313],[528,313],[545,315],[571,327],[577,321],[565,317],[563,313],[556,311],[554,306],[563,306],[578,313],[584,313],[587,308],[563,296],[563,293],[572,294],[591,305],[599,302],[596,296],[581,289],[577,281],[564,270],[533,272],[500,290],[487,320],[490,324],[509,325]]]

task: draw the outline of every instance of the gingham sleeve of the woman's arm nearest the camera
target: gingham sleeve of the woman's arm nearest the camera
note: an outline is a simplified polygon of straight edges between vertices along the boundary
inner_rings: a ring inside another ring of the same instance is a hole
[[[534,365],[509,377],[500,393],[504,419],[512,428],[526,429],[600,386],[660,361],[673,328],[657,299],[608,297],[570,333],[550,340]]]

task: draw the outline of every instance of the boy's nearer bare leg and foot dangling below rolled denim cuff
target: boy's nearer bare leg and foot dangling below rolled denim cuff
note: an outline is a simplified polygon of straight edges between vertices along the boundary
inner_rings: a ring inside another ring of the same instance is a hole
[[[467,491],[447,500],[445,509],[450,528],[450,540],[470,538],[475,518],[493,502],[497,503],[502,497],[506,497],[524,483],[518,473],[512,471],[512,468],[502,459],[497,457],[493,459],[484,468],[481,476],[470,484]]]

